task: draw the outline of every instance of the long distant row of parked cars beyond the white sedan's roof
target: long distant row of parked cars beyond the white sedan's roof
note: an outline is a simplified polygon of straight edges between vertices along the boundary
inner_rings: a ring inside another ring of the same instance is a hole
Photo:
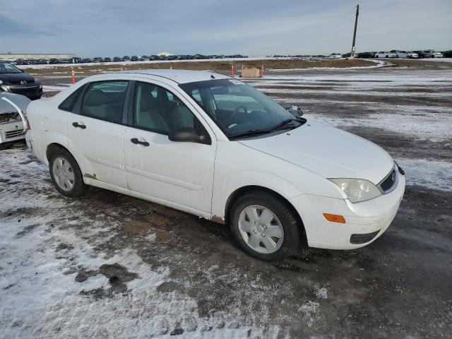
[[[155,60],[199,60],[199,59],[226,59],[226,58],[247,58],[247,55],[203,55],[203,54],[179,54],[179,55],[133,55],[132,57],[95,57],[95,58],[69,58],[69,59],[17,59],[8,61],[16,65],[45,65],[45,64],[88,64],[90,62],[120,62],[120,61],[155,61]]]

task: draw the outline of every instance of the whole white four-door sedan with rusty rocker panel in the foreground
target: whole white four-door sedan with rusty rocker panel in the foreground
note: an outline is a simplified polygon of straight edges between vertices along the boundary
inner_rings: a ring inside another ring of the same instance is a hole
[[[264,260],[300,242],[373,242],[405,189],[403,170],[379,146],[294,117],[218,73],[90,76],[32,102],[28,119],[28,145],[61,194],[97,186],[224,223]]]

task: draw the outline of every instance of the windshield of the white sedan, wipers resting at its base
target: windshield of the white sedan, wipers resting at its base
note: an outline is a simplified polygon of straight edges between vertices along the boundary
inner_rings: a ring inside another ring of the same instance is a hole
[[[198,81],[179,87],[198,102],[228,138],[246,136],[246,132],[270,133],[275,127],[293,129],[302,124],[278,103],[237,79]],[[287,124],[290,121],[295,122]]]

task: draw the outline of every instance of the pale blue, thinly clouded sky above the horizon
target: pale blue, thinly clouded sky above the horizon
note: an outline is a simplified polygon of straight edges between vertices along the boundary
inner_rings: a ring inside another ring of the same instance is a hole
[[[356,0],[0,0],[0,53],[350,52]],[[359,1],[357,52],[452,49],[452,0]]]

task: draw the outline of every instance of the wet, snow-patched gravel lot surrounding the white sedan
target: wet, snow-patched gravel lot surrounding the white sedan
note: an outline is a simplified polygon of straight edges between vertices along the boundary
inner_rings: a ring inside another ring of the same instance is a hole
[[[393,224],[355,251],[264,263],[225,226],[102,189],[64,198],[25,145],[1,151],[0,338],[451,338],[452,66],[431,64],[249,80],[405,169]]]

